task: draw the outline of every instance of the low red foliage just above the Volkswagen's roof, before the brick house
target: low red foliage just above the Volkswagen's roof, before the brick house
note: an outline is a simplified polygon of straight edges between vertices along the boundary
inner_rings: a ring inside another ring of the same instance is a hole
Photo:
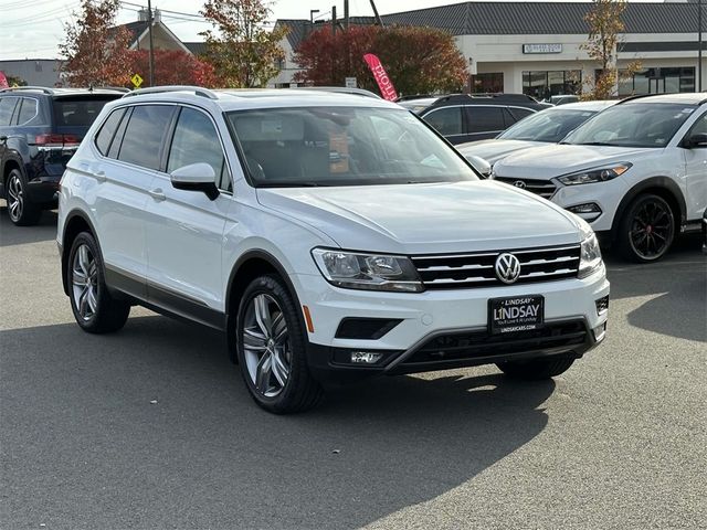
[[[220,83],[213,66],[181,50],[155,50],[155,85],[197,85],[215,87]],[[130,72],[147,77],[149,51],[130,51]]]

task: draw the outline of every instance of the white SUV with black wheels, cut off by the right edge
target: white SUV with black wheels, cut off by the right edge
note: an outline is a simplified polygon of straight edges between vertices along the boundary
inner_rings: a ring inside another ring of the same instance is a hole
[[[707,208],[707,94],[624,99],[492,177],[580,215],[626,258],[659,259]]]

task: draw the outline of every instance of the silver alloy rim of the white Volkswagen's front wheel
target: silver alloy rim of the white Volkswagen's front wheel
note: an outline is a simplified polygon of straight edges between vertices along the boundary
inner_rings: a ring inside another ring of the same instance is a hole
[[[292,369],[292,346],[285,316],[270,295],[253,297],[243,317],[243,353],[251,382],[265,398],[277,396]]]

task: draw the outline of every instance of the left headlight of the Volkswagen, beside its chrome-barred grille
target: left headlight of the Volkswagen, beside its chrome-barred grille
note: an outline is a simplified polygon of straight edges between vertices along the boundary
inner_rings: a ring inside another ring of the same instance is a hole
[[[326,248],[315,248],[312,255],[324,277],[338,287],[405,293],[423,290],[418,271],[405,256]]]

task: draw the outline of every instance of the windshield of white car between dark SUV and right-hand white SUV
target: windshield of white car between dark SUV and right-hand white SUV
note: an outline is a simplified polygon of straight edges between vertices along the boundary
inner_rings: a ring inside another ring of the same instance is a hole
[[[595,110],[544,110],[518,121],[497,138],[557,144],[594,114]]]

